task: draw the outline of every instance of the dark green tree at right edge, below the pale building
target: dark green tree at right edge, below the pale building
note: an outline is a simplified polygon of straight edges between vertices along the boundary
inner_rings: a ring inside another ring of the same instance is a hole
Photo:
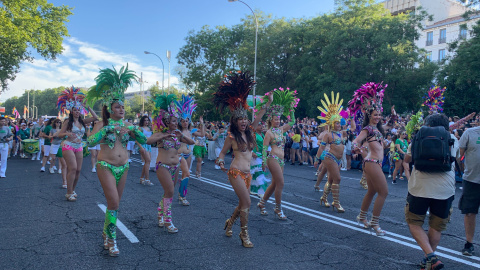
[[[439,85],[445,91],[447,115],[467,115],[480,107],[480,22],[472,29],[472,38],[457,44],[455,57],[439,72]]]

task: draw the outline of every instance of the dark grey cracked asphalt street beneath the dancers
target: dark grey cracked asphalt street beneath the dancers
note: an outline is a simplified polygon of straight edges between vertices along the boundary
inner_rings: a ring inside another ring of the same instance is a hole
[[[259,199],[252,196],[249,232],[255,247],[244,248],[239,221],[233,237],[224,235],[224,222],[238,199],[226,174],[208,160],[202,178],[190,180],[191,206],[173,205],[177,234],[157,226],[163,190],[156,175],[150,177],[155,186],[140,185],[141,165],[132,162],[118,214],[125,226],[117,232],[121,254],[112,258],[102,247],[105,197],[90,157],[83,165],[78,200],[68,202],[59,174],[41,173],[38,161],[8,161],[7,178],[0,179],[1,269],[418,269],[422,258],[404,220],[406,181],[389,184],[380,221],[387,235],[377,237],[355,222],[365,194],[360,172],[341,173],[340,201],[346,212],[339,214],[319,205],[314,169],[289,164],[283,192],[288,220],[276,219],[271,202],[269,215],[261,216]],[[477,269],[479,257],[460,253],[465,234],[458,187],[437,254],[447,269]],[[475,242],[480,252],[478,229]]]

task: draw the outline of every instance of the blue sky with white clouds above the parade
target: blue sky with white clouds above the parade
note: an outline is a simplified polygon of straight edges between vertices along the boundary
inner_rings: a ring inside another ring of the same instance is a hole
[[[243,0],[254,11],[271,14],[274,18],[311,18],[332,12],[334,0]],[[174,74],[177,53],[185,45],[191,30],[204,25],[231,26],[251,15],[241,2],[228,0],[48,0],[54,5],[73,7],[67,28],[70,37],[63,41],[64,52],[55,61],[41,57],[22,63],[9,90],[0,95],[0,101],[21,96],[25,89],[46,89],[75,85],[90,87],[101,68],[127,62],[129,69],[143,75],[144,88],[162,81],[162,64],[168,84],[168,60],[171,51],[170,84],[180,87]],[[261,50],[261,48],[258,48]],[[135,84],[128,92],[140,91]]]

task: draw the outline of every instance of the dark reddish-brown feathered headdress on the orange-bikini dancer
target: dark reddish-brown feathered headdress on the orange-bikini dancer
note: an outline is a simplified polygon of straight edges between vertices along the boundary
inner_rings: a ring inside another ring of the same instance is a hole
[[[234,118],[247,118],[247,97],[255,81],[250,72],[231,72],[224,76],[215,92],[213,103],[220,112],[228,107]]]

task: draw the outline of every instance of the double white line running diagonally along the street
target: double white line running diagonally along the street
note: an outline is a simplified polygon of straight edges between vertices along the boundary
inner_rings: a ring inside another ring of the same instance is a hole
[[[205,178],[205,177],[201,177],[201,178],[197,178],[195,176],[191,176],[191,177],[195,178],[197,180],[200,180],[204,183],[233,191],[233,188],[229,184],[218,182],[218,181],[215,181],[215,180],[212,180],[212,179],[209,179],[209,178]],[[256,196],[256,195],[250,195],[250,197],[258,199],[258,196]],[[274,204],[273,199],[269,199],[268,202]],[[323,213],[323,212],[320,212],[320,211],[317,211],[317,210],[314,210],[314,209],[306,208],[306,207],[303,207],[303,206],[300,206],[300,205],[296,205],[296,204],[293,204],[293,203],[290,203],[290,202],[287,202],[287,201],[282,201],[282,203],[283,203],[283,207],[285,209],[289,209],[289,210],[292,210],[294,212],[301,213],[301,214],[304,214],[304,215],[307,215],[307,216],[310,216],[310,217],[313,217],[313,218],[316,218],[316,219],[320,219],[320,220],[323,220],[323,221],[326,221],[326,222],[330,222],[332,224],[339,225],[339,226],[342,226],[342,227],[345,227],[345,228],[348,228],[348,229],[352,229],[352,230],[355,230],[355,231],[358,231],[358,232],[361,232],[361,233],[365,233],[365,234],[371,234],[372,233],[371,230],[363,229],[362,227],[358,226],[357,223],[354,222],[354,221],[344,219],[344,218],[340,218],[340,217],[337,217],[337,216],[334,216],[334,215],[329,215],[329,214],[326,214],[326,213]],[[352,226],[352,225],[349,225],[349,224],[356,225],[356,226]],[[394,243],[397,243],[397,244],[400,244],[400,245],[403,245],[403,246],[407,246],[407,247],[411,247],[411,248],[414,248],[414,249],[417,249],[417,250],[421,250],[421,248],[416,244],[416,242],[413,238],[407,237],[407,236],[404,236],[404,235],[400,235],[400,234],[396,234],[396,233],[392,233],[392,232],[388,232],[388,231],[385,231],[385,232],[387,233],[387,236],[382,236],[382,237],[379,237],[379,238],[385,239],[385,240],[388,240],[388,241],[391,241],[391,242],[394,242]],[[397,238],[400,238],[400,239],[396,239],[396,238],[393,238],[393,237],[397,237]],[[407,241],[412,242],[412,243],[405,242],[401,239],[407,240]],[[451,255],[446,254],[444,252],[438,252],[438,250],[448,252]],[[443,258],[447,258],[447,259],[450,259],[452,261],[456,261],[456,262],[463,263],[463,264],[466,264],[466,265],[469,265],[469,266],[472,266],[472,267],[480,268],[480,264],[466,260],[466,259],[469,259],[469,260],[480,261],[480,257],[477,257],[477,256],[466,257],[466,256],[463,256],[461,254],[461,252],[459,252],[459,251],[455,251],[455,250],[452,250],[452,249],[449,249],[449,248],[444,248],[444,247],[441,247],[441,246],[437,246],[437,252],[435,252],[435,253],[437,255],[443,257]],[[457,256],[459,256],[459,257],[457,257]]]

